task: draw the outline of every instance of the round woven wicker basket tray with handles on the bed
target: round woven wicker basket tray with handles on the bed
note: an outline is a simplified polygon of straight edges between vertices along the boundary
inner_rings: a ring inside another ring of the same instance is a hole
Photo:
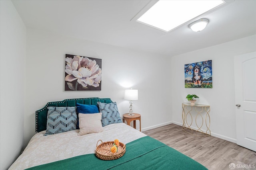
[[[98,140],[98,142],[102,140]],[[100,145],[96,145],[96,156],[103,160],[114,160],[122,157],[126,151],[126,145],[119,142],[118,151],[116,153],[112,153],[110,148],[113,146],[113,141],[109,142],[102,142]]]

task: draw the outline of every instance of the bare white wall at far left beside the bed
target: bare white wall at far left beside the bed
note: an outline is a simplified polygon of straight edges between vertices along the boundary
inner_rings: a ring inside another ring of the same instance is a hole
[[[24,145],[26,27],[11,1],[0,1],[0,169]]]

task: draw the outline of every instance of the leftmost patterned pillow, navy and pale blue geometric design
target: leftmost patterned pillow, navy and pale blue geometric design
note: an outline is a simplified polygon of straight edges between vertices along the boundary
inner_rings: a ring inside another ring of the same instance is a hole
[[[76,107],[47,107],[46,135],[76,130]]]

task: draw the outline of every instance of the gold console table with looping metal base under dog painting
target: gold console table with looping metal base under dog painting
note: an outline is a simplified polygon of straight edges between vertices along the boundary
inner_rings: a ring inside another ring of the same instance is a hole
[[[194,109],[193,109],[194,108]],[[196,112],[196,115],[193,114]],[[210,106],[190,103],[182,103],[183,131],[196,136],[210,136]],[[193,116],[195,123],[193,124]],[[192,127],[194,125],[194,127]],[[202,130],[204,128],[205,130]]]

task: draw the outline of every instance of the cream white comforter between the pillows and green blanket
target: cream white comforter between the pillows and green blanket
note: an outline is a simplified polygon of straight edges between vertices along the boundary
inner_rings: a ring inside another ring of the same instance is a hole
[[[44,136],[45,131],[37,133],[9,170],[22,170],[74,156],[95,153],[98,140],[106,142],[118,139],[126,144],[146,136],[125,123],[111,124],[103,128],[101,133],[82,136],[78,136],[79,130],[48,136]]]

